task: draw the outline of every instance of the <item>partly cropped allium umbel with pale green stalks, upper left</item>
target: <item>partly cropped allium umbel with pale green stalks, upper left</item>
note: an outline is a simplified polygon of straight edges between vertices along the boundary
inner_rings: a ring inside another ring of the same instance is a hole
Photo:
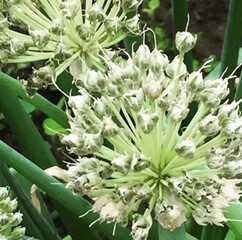
[[[58,63],[54,76],[68,67],[78,66],[78,71],[90,66],[102,69],[98,56],[104,49],[123,40],[128,33],[140,32],[137,9],[141,2],[4,0],[0,5],[0,62],[47,60]],[[131,11],[136,14],[128,17]],[[43,69],[35,70],[34,75],[42,75],[38,71]],[[26,82],[27,90],[48,85],[44,77],[31,77]]]

